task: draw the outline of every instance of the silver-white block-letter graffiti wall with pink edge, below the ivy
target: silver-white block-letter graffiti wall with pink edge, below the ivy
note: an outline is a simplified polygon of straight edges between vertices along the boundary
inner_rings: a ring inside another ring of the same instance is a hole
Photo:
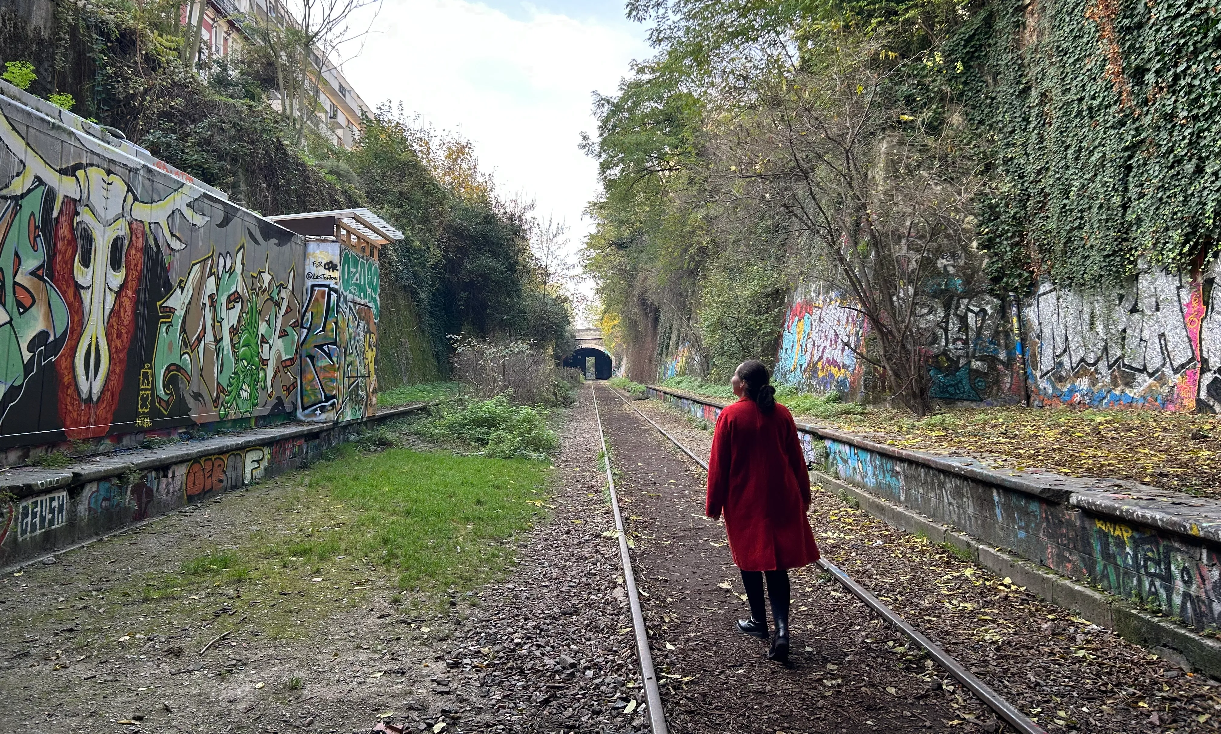
[[[1217,271],[1145,269],[1126,288],[1095,293],[1042,283],[1024,307],[1034,402],[1215,412]]]

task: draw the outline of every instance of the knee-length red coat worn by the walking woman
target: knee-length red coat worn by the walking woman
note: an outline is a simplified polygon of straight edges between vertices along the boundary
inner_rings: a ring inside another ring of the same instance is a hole
[[[775,570],[818,561],[808,507],[810,474],[789,409],[777,404],[766,414],[742,398],[722,410],[708,459],[706,512],[725,515],[737,568]]]

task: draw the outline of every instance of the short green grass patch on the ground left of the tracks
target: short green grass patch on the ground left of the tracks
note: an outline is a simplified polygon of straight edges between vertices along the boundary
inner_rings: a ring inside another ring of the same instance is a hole
[[[228,612],[241,608],[241,627],[294,638],[336,612],[379,602],[411,613],[448,609],[449,596],[502,574],[513,539],[547,512],[545,462],[407,448],[370,454],[350,443],[332,452],[256,497],[227,500],[249,503],[241,509],[248,535],[184,554],[175,573],[116,587],[142,602],[131,631],[160,631],[172,619],[219,634],[239,624]]]

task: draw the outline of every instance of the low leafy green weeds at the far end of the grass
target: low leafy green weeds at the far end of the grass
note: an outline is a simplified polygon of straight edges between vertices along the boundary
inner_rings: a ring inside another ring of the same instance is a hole
[[[559,447],[543,409],[513,405],[504,394],[462,408],[441,408],[414,430],[433,441],[479,446],[484,448],[481,456],[502,459],[542,459]]]

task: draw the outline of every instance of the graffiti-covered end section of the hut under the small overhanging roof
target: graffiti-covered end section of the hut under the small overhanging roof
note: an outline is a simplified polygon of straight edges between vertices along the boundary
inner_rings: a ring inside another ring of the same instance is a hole
[[[310,241],[302,313],[302,420],[377,412],[377,261],[338,241]]]

